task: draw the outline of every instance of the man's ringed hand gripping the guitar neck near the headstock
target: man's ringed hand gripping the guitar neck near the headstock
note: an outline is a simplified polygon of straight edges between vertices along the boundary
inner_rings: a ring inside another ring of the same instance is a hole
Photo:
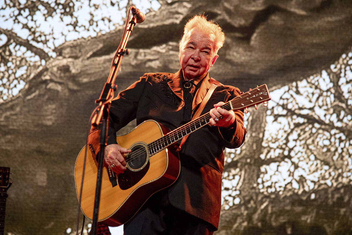
[[[224,105],[224,102],[219,102],[214,104],[214,108],[210,110],[210,125],[212,126],[222,126],[230,127],[236,120],[235,113],[233,110],[227,111],[226,109],[221,109],[220,106]]]

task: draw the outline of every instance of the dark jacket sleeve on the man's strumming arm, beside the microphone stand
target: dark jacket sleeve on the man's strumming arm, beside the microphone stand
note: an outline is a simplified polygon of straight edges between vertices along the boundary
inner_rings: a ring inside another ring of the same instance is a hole
[[[139,100],[143,94],[148,74],[140,77],[113,99],[109,109],[107,144],[116,144],[116,132],[136,118]]]

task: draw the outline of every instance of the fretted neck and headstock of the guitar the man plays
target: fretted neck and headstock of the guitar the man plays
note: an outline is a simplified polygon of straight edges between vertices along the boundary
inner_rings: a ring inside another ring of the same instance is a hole
[[[263,103],[270,100],[270,95],[268,92],[268,87],[264,84],[246,93],[243,93],[234,99],[228,101],[224,105],[220,106],[222,109],[230,110],[242,110],[246,107],[250,107],[256,104]],[[168,134],[158,138],[157,140],[149,143],[147,145],[149,155],[152,156],[159,151],[165,149],[171,144],[178,140],[181,140],[184,136],[191,134],[192,132],[200,129],[201,127],[207,125],[210,121],[210,111],[204,115],[196,118],[183,126],[169,132]]]

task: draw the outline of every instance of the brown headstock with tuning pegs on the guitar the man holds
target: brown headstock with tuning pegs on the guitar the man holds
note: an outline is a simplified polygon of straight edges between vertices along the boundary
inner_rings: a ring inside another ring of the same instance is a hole
[[[246,93],[239,95],[230,101],[231,108],[233,110],[246,109],[248,107],[264,103],[264,106],[267,105],[266,101],[270,100],[270,94],[266,84],[258,86],[254,89],[250,89]],[[257,107],[256,107],[257,108]]]

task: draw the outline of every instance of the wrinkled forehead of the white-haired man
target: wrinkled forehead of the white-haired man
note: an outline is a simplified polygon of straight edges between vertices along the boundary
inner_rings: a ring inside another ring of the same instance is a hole
[[[187,44],[201,45],[201,47],[208,47],[212,51],[215,50],[215,35],[207,34],[197,29],[192,29],[183,35],[181,39],[180,50],[183,50]]]

